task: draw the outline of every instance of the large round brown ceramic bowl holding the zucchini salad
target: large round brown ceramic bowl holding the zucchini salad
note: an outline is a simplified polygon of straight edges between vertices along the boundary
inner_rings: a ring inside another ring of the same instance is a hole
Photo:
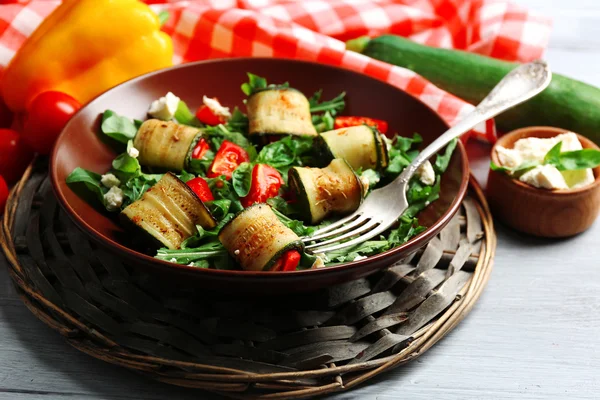
[[[114,216],[97,210],[74,193],[65,178],[75,167],[106,172],[115,152],[98,135],[104,110],[143,119],[150,102],[172,91],[191,109],[202,95],[217,96],[229,107],[243,107],[240,85],[246,72],[269,82],[290,84],[311,94],[323,89],[328,99],[347,92],[345,115],[368,115],[389,122],[390,131],[402,135],[419,132],[425,143],[447,129],[437,114],[405,92],[384,82],[349,70],[284,59],[247,58],[211,60],[184,64],[123,83],[92,100],[69,121],[58,138],[51,159],[51,178],[60,204],[73,221],[93,239],[146,270],[194,285],[236,292],[281,293],[326,287],[369,275],[427,244],[457,212],[465,195],[469,167],[464,147],[459,145],[441,183],[441,196],[419,215],[428,229],[408,243],[388,252],[331,268],[294,272],[208,270],[159,261],[128,247],[122,227]],[[181,279],[183,278],[183,279]],[[191,279],[190,279],[191,278]]]

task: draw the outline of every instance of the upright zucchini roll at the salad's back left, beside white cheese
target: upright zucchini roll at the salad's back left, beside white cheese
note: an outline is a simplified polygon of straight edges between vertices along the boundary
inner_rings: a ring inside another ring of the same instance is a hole
[[[199,129],[191,126],[149,119],[140,126],[133,146],[140,152],[140,164],[180,172],[187,165],[192,145],[201,135]]]

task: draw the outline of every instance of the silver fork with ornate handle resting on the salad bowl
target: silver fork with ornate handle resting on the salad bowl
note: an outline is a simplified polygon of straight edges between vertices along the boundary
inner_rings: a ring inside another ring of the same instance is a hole
[[[541,60],[512,70],[473,111],[421,151],[396,179],[372,191],[353,214],[303,237],[306,249],[313,253],[326,253],[356,246],[383,233],[408,208],[408,183],[421,164],[479,123],[537,95],[550,84],[551,79],[548,65]],[[347,241],[337,243],[341,240]]]

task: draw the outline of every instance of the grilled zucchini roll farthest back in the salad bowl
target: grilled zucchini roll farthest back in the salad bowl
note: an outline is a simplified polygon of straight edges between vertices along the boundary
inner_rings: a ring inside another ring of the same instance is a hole
[[[310,104],[292,88],[267,88],[252,94],[246,103],[250,135],[311,135]]]

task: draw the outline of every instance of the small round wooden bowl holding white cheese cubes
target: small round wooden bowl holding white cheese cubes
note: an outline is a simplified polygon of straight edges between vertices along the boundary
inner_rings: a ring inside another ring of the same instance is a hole
[[[512,148],[526,137],[549,138],[568,132],[560,128],[532,126],[501,137],[492,148],[492,161],[500,165],[497,146]],[[583,148],[600,150],[591,140],[577,135]],[[490,169],[487,197],[496,218],[507,225],[535,236],[567,237],[585,231],[600,210],[600,167],[594,168],[596,180],[579,189],[538,189],[502,172]]]

